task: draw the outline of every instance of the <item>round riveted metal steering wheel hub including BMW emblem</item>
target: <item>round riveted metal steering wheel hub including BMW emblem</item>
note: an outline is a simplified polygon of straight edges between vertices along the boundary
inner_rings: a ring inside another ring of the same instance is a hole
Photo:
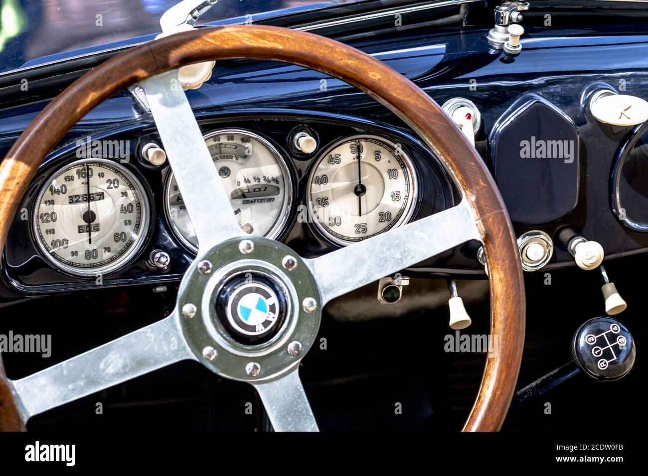
[[[299,363],[321,319],[321,306],[311,310],[302,302],[321,297],[310,269],[295,256],[268,238],[235,238],[192,264],[180,284],[178,308],[196,306],[192,317],[181,317],[181,328],[203,365],[225,378],[265,381]],[[204,262],[213,271],[204,273]]]

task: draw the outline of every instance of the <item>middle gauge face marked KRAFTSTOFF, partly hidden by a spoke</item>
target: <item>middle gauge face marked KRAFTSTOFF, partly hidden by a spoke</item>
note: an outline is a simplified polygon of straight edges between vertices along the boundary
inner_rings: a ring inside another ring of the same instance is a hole
[[[288,167],[279,152],[262,137],[237,129],[209,133],[205,143],[243,231],[268,238],[279,236],[292,197]],[[197,251],[196,232],[173,173],[167,179],[165,195],[169,223],[182,242]]]

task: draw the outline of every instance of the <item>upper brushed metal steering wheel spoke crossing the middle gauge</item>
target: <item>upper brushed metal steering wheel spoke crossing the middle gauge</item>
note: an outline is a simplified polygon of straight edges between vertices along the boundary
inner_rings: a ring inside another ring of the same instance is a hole
[[[207,250],[229,238],[245,236],[180,85],[178,70],[157,74],[140,85],[146,93],[200,249]]]

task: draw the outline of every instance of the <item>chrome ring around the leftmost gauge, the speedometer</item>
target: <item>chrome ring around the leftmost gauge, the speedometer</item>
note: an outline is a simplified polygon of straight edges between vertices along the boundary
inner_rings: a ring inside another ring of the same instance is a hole
[[[38,207],[40,206],[41,199],[43,199],[43,195],[47,191],[49,185],[52,183],[54,177],[62,174],[64,170],[85,163],[106,164],[108,166],[116,168],[117,170],[119,170],[119,172],[121,172],[121,174],[124,174],[124,176],[126,176],[126,178],[133,185],[135,185],[135,187],[139,188],[142,211],[144,215],[142,225],[141,225],[141,232],[137,238],[137,243],[135,243],[135,245],[133,245],[133,247],[130,250],[128,250],[128,252],[126,252],[122,256],[119,256],[119,258],[116,258],[115,262],[110,262],[109,266],[92,267],[87,269],[87,271],[84,269],[79,269],[74,266],[70,266],[69,264],[65,264],[64,262],[61,262],[60,260],[58,260],[58,258],[54,257],[49,251],[47,251],[47,249],[43,245],[43,242],[39,238],[38,229],[36,229],[36,220],[34,219],[34,216],[38,214]],[[137,172],[130,170],[124,167],[119,162],[116,162],[111,159],[106,159],[103,157],[97,157],[97,158],[88,157],[86,159],[79,159],[77,161],[66,163],[64,166],[56,168],[56,170],[54,170],[52,174],[49,174],[49,176],[47,176],[47,179],[43,181],[42,185],[40,186],[38,195],[36,196],[36,201],[34,201],[34,205],[32,206],[32,210],[31,210],[30,221],[32,223],[31,225],[32,239],[34,240],[34,242],[36,242],[36,245],[40,250],[41,256],[43,256],[43,258],[45,258],[50,264],[52,264],[54,267],[56,267],[56,269],[60,271],[64,271],[65,273],[68,273],[69,275],[73,275],[76,277],[96,277],[97,273],[100,273],[102,275],[109,275],[111,273],[114,273],[115,271],[124,269],[124,267],[128,266],[128,264],[133,260],[133,258],[135,258],[135,256],[137,256],[140,253],[140,251],[143,249],[144,245],[146,244],[148,238],[147,235],[149,234],[150,225],[152,222],[151,215],[152,215],[152,209],[151,209],[151,201],[150,201],[150,196],[148,194],[148,189],[143,185],[143,181],[137,176]]]

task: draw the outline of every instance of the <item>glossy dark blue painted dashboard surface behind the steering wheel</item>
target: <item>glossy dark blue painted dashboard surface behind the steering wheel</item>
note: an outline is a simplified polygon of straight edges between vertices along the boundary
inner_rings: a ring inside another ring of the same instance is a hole
[[[437,28],[426,34],[401,32],[389,41],[349,43],[388,63],[439,104],[457,96],[474,102],[481,111],[483,122],[476,136],[476,148],[491,169],[496,166],[492,161],[494,148],[491,144],[494,127],[506,117],[507,111],[515,109],[520,98],[534,95],[561,111],[572,122],[579,137],[577,164],[580,169],[576,192],[572,188],[565,195],[565,203],[561,199],[558,211],[549,210],[549,205],[542,199],[529,199],[527,206],[535,208],[528,210],[527,214],[544,218],[522,219],[515,223],[518,234],[540,229],[555,240],[558,247],[548,267],[573,264],[571,256],[559,246],[561,231],[568,227],[600,242],[608,257],[645,251],[648,234],[625,227],[610,206],[612,166],[619,148],[629,141],[632,131],[596,122],[588,109],[588,99],[602,87],[629,95],[648,96],[648,63],[645,61],[648,57],[648,25],[525,27],[524,50],[516,57],[489,49],[485,38],[488,28],[483,27]],[[284,63],[231,60],[218,62],[211,80],[200,90],[189,91],[187,96],[205,130],[211,127],[208,122],[227,127],[247,127],[282,147],[286,146],[282,143],[285,130],[305,121],[310,125],[318,124],[318,133],[331,139],[367,130],[402,140],[413,151],[423,177],[423,188],[427,190],[416,216],[443,209],[451,203],[450,192],[444,190],[447,187],[447,184],[443,185],[445,174],[439,170],[434,156],[421,146],[400,119],[369,96],[339,80]],[[47,100],[25,101],[0,110],[0,156],[8,151],[45,104]],[[76,124],[43,165],[40,177],[42,179],[54,163],[65,160],[80,137],[89,134],[93,138],[119,136],[130,137],[136,142],[138,137],[147,133],[154,133],[150,113],[136,95],[123,91]],[[303,190],[302,179],[310,162],[294,158],[293,164],[295,176],[299,179],[298,187]],[[142,169],[159,210],[159,183],[163,172],[145,170],[143,164],[133,166]],[[533,174],[529,176],[529,180],[532,179]],[[439,188],[435,188],[435,183],[441,184]],[[444,190],[441,195],[440,190]],[[303,193],[299,193],[297,198],[303,200]],[[25,198],[29,199],[29,196]],[[156,282],[178,280],[181,267],[191,260],[191,255],[168,233],[167,224],[161,217],[143,255],[124,273],[111,277],[112,284],[141,282],[147,276],[153,276],[152,280]],[[531,225],[531,222],[535,224]],[[19,224],[14,225],[19,228]],[[302,226],[289,227],[281,240],[306,256],[325,253],[334,247],[316,236],[310,228]],[[151,275],[145,258],[146,250],[150,251],[153,245],[174,249],[177,253],[174,262],[178,268],[164,276]],[[30,257],[29,246],[29,236],[24,231],[10,236],[5,254],[8,266],[3,267],[3,278],[8,288],[26,293],[51,292],[52,288],[42,287],[46,282],[61,289],[69,289],[70,285],[86,286],[87,283],[78,278],[54,270],[39,272],[38,278],[37,271],[43,271],[43,260],[37,253]],[[450,250],[411,271],[483,275],[483,268],[474,259],[474,248],[470,246]],[[48,279],[51,280],[48,282]]]

